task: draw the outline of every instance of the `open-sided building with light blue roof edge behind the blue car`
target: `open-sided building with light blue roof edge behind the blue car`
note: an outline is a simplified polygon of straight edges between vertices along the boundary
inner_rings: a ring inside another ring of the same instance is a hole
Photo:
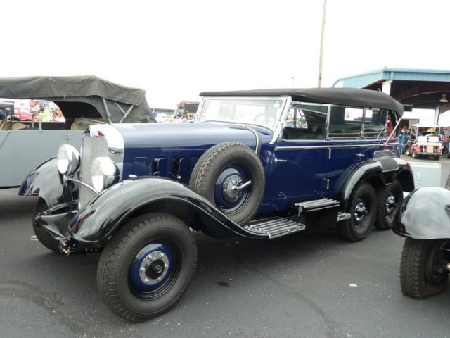
[[[373,72],[342,77],[333,87],[380,90],[405,106],[434,109],[439,114],[450,110],[450,70],[383,68]]]

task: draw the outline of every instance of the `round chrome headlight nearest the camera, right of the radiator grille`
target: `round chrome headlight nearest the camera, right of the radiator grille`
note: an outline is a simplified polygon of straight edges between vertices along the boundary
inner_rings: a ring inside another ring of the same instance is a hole
[[[119,182],[120,171],[117,165],[108,157],[96,157],[91,167],[92,187],[97,192]]]

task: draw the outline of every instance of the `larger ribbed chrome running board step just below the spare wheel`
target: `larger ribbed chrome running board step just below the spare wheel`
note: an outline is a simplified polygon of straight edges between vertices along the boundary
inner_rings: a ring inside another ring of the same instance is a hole
[[[266,234],[269,239],[273,239],[302,231],[304,230],[304,224],[288,218],[274,216],[252,220],[244,225],[244,229],[255,234]]]

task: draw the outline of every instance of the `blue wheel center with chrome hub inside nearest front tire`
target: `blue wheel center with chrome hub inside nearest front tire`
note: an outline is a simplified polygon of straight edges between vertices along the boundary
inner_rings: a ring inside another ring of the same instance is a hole
[[[174,268],[174,253],[169,246],[152,243],[136,253],[129,267],[129,283],[138,293],[155,292],[167,282]]]

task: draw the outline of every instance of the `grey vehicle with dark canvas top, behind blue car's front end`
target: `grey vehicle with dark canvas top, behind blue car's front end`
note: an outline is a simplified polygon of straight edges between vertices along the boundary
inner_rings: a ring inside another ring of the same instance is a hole
[[[65,123],[1,121],[0,189],[20,185],[34,167],[56,156],[61,144],[80,149],[91,123],[155,122],[145,95],[95,76],[0,78],[0,97],[53,101],[66,118]]]

